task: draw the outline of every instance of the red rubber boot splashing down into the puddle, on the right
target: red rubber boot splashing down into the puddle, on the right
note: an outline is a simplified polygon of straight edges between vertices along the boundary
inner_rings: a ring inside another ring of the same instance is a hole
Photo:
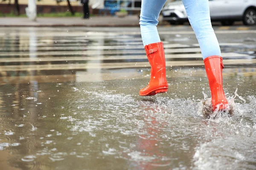
[[[222,69],[224,68],[222,57],[210,56],[204,59],[206,74],[209,80],[209,86],[212,94],[212,109],[215,111],[229,108],[222,85]]]

